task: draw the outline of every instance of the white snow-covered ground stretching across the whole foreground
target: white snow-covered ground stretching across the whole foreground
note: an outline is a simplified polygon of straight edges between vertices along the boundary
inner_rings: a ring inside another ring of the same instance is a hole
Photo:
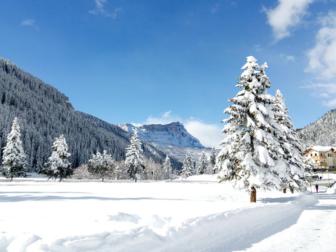
[[[314,191],[0,178],[0,251],[336,251],[335,187]]]

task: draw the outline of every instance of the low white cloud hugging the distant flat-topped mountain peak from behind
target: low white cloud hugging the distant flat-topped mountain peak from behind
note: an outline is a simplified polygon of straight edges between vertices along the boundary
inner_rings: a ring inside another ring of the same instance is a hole
[[[207,124],[196,118],[183,119],[180,116],[173,115],[172,111],[167,111],[165,113],[161,113],[158,117],[149,116],[144,125],[165,125],[177,121],[183,123],[186,130],[193,135],[193,137],[200,140],[203,146],[209,148],[216,146],[216,148],[221,148],[219,144],[223,140],[224,135],[221,134],[222,127],[219,123],[218,125]]]

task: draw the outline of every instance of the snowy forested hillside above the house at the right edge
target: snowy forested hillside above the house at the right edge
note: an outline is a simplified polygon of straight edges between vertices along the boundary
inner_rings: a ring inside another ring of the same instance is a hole
[[[336,146],[336,109],[297,132],[305,148],[312,145]]]

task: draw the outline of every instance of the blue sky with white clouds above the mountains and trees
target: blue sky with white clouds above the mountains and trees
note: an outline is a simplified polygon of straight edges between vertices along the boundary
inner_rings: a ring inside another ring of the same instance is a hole
[[[1,1],[0,57],[109,123],[180,120],[205,146],[262,64],[300,128],[336,106],[334,0]]]

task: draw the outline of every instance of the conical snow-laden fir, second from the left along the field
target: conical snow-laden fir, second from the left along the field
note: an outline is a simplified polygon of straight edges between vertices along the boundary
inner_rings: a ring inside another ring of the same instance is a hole
[[[66,144],[65,137],[61,134],[56,138],[52,145],[51,156],[49,162],[45,163],[45,169],[41,171],[48,175],[50,178],[59,177],[59,182],[69,174],[71,174],[71,162],[69,161],[70,153],[68,153],[68,145]]]

